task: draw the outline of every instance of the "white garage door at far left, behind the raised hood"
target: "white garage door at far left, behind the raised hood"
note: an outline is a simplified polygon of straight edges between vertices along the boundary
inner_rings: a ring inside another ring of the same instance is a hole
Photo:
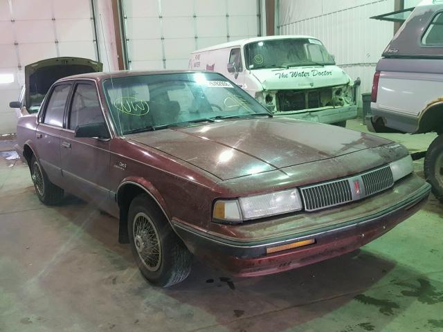
[[[15,132],[8,103],[19,98],[24,66],[50,57],[97,59],[91,17],[90,0],[0,1],[0,133]]]

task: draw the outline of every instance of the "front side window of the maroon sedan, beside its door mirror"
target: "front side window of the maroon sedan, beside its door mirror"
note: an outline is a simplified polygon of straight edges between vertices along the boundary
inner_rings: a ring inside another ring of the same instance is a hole
[[[96,87],[91,84],[78,84],[72,98],[69,129],[75,130],[79,124],[96,122],[105,122]]]

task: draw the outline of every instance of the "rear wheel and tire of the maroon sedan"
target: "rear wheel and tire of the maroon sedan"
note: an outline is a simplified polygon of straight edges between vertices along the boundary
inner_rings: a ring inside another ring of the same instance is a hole
[[[43,167],[35,156],[30,160],[30,176],[34,183],[35,192],[42,203],[54,205],[62,201],[64,191],[49,181]]]

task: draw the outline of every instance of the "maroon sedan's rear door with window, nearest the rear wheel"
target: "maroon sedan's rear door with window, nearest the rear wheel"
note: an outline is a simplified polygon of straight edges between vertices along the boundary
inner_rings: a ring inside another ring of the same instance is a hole
[[[71,92],[71,87],[70,82],[62,82],[53,86],[36,131],[35,144],[37,145],[40,165],[42,165],[49,180],[59,186],[63,184],[60,135],[63,131],[66,101]]]

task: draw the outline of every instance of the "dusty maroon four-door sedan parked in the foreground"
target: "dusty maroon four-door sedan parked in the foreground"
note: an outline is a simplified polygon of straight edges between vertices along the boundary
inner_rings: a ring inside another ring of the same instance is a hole
[[[91,73],[53,84],[17,124],[39,199],[118,217],[143,276],[170,286],[192,256],[256,276],[351,252],[426,201],[405,147],[272,118],[212,72]]]

